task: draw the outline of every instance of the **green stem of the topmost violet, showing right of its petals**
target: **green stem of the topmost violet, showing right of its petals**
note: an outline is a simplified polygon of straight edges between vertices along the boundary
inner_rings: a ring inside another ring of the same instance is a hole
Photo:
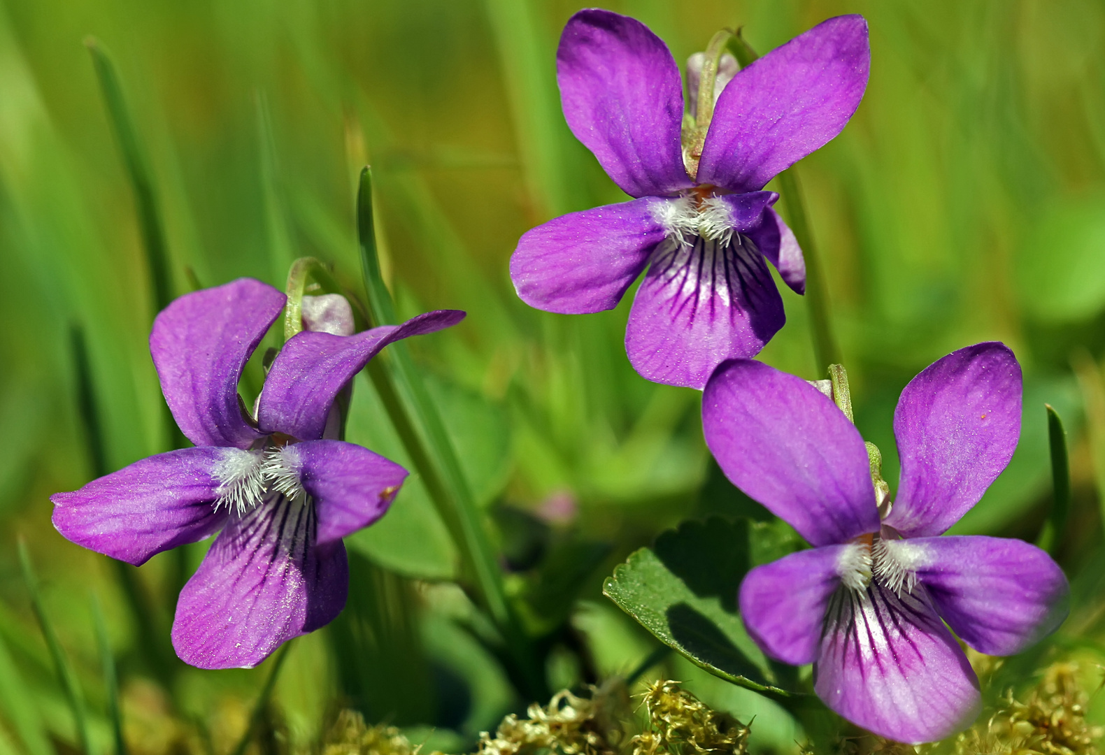
[[[727,49],[737,59],[741,68],[759,57],[756,51],[745,42],[740,30],[737,30],[737,33],[729,38]],[[801,247],[802,256],[806,259],[806,306],[810,312],[813,359],[817,362],[817,372],[821,372],[825,365],[842,361],[840,349],[829,323],[829,291],[825,288],[824,273],[821,269],[821,258],[818,256],[817,246],[813,244],[813,234],[810,232],[810,222],[806,213],[806,203],[802,201],[798,171],[794,168],[788,168],[779,173],[777,180],[779,181],[779,194],[787,209],[787,222],[790,224],[790,230],[794,232],[794,240]]]

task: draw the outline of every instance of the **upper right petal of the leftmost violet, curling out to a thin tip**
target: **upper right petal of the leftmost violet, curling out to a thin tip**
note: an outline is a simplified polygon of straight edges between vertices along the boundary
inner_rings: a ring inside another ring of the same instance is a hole
[[[284,433],[301,440],[317,440],[326,428],[326,414],[341,387],[360,372],[380,349],[394,341],[432,333],[456,325],[464,312],[440,309],[381,326],[356,336],[304,330],[284,344],[265,378],[257,401],[257,424],[265,433]]]

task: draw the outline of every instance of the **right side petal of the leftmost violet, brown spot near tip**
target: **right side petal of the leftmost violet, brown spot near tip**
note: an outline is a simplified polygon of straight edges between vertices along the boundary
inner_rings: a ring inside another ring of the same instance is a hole
[[[367,448],[340,440],[287,446],[301,465],[299,481],[315,501],[315,542],[328,543],[368,527],[387,512],[407,470]]]

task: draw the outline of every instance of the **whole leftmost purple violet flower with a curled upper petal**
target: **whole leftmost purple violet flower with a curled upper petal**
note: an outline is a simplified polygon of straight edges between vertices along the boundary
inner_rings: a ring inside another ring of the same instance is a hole
[[[284,304],[283,294],[249,278],[170,304],[154,322],[150,353],[172,416],[196,447],[51,496],[62,535],[136,566],[221,530],[181,591],[172,624],[177,655],[200,668],[256,666],[341,612],[341,538],[383,515],[407,470],[335,439],[335,398],[388,343],[464,317],[441,310],[351,334],[348,302],[305,299],[304,320],[315,330],[284,344],[251,415],[239,379]]]

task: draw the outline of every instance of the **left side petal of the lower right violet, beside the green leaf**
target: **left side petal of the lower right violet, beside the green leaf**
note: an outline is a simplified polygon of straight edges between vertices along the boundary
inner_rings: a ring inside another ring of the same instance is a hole
[[[818,659],[829,596],[840,586],[838,564],[850,547],[799,551],[748,572],[740,618],[764,652],[792,666]]]

